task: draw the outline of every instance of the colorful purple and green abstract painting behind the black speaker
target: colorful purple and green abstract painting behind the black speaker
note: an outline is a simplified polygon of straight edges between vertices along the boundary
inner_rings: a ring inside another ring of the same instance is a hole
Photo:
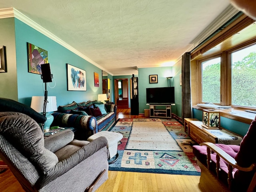
[[[28,72],[42,74],[41,64],[48,63],[48,52],[28,43]]]

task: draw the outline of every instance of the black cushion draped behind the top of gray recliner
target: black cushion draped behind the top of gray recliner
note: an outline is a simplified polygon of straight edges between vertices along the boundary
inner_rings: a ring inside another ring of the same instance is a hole
[[[20,112],[30,116],[38,123],[43,123],[46,121],[46,117],[36,112],[29,106],[26,106],[22,103],[14,101],[12,99],[0,98],[0,112]]]

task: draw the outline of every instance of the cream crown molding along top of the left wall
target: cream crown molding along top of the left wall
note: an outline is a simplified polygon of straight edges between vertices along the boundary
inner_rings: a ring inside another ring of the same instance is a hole
[[[94,66],[100,68],[101,70],[104,70],[105,72],[107,72],[108,74],[113,76],[113,74],[111,72],[102,68],[102,66],[98,65],[96,62],[94,62],[90,58],[86,57],[84,54],[82,54],[81,52],[79,52],[78,50],[76,50],[75,48],[73,48],[72,46],[70,46],[69,44],[67,44],[66,42],[64,42],[63,40],[61,40],[60,38],[58,38],[57,36],[52,34],[51,32],[49,32],[48,30],[46,30],[45,28],[43,28],[42,26],[40,26],[39,24],[37,24],[36,22],[31,20],[30,18],[28,18],[27,16],[25,16],[24,14],[22,14],[21,12],[16,10],[15,8],[0,9],[0,18],[10,18],[10,17],[17,18],[18,20],[24,22],[28,26],[34,28],[38,32],[47,36],[48,38],[50,38],[50,39],[54,40],[55,42],[57,42],[58,44],[64,46],[65,48],[67,48],[68,50],[73,52],[74,54],[80,56],[84,60],[90,62]]]

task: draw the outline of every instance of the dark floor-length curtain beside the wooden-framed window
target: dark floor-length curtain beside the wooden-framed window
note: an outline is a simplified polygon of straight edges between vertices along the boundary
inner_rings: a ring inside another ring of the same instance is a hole
[[[192,118],[190,52],[182,55],[182,122],[184,118]]]

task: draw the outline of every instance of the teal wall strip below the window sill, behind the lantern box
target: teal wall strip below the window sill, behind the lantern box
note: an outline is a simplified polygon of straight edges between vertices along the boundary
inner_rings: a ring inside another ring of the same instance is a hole
[[[193,118],[202,121],[203,111],[193,108]],[[240,121],[232,120],[226,117],[220,117],[220,126],[227,130],[230,130],[240,136],[245,136],[250,124],[246,124]]]

